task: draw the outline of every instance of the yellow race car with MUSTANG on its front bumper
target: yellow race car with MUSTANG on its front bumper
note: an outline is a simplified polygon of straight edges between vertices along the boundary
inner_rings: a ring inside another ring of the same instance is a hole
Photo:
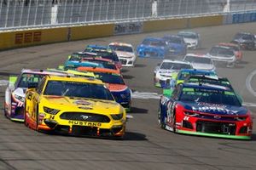
[[[125,122],[125,109],[100,80],[50,76],[26,92],[24,123],[34,130],[122,138]]]

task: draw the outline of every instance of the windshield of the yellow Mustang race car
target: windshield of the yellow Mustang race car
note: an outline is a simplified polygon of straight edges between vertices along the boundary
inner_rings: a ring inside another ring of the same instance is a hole
[[[44,95],[113,100],[108,88],[88,82],[49,81]]]

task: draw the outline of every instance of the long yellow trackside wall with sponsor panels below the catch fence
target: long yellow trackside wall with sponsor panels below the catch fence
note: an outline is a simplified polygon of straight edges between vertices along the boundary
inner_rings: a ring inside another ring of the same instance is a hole
[[[0,32],[0,50],[115,35],[256,21],[256,12]]]

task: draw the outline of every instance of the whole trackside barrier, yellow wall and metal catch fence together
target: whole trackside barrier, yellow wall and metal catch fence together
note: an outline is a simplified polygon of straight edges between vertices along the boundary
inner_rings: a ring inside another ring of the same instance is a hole
[[[254,1],[256,3],[256,0],[0,0],[0,50],[120,34],[253,22],[256,21]],[[8,8],[3,8],[3,4]],[[200,8],[195,8],[196,5]],[[20,9],[15,11],[18,7]]]

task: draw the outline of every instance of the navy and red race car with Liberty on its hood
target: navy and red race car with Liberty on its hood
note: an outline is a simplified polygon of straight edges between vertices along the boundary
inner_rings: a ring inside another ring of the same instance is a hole
[[[178,85],[171,97],[161,96],[160,127],[229,139],[251,139],[253,120],[230,88],[210,84]]]

